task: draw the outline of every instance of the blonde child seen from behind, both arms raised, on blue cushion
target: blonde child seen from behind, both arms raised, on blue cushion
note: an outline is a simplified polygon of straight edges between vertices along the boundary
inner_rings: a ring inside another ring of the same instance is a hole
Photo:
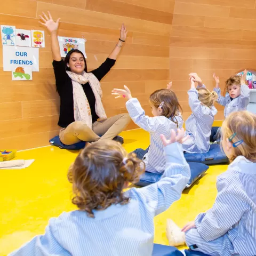
[[[190,138],[182,147],[187,153],[206,153],[210,148],[211,128],[217,114],[213,104],[218,94],[207,90],[196,73],[189,75],[191,88],[188,91],[188,103],[193,114],[185,122],[186,134]],[[195,82],[198,83],[197,89]]]

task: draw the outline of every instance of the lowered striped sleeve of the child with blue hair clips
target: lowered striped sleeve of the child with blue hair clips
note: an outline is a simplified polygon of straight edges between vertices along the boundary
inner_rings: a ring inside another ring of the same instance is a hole
[[[195,219],[195,227],[205,241],[213,241],[226,234],[248,210],[237,196],[237,189],[227,179],[217,180],[217,189],[213,207],[205,213],[200,213]],[[187,243],[189,244],[189,241]]]

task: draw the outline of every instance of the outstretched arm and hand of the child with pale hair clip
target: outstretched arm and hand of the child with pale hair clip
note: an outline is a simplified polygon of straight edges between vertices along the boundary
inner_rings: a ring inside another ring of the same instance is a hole
[[[158,117],[145,115],[145,111],[142,109],[140,102],[138,99],[132,98],[131,91],[127,86],[124,85],[124,90],[114,89],[112,94],[116,95],[115,98],[125,98],[127,100],[126,109],[135,124],[139,125],[147,132],[159,131],[159,125],[163,125],[163,123]]]

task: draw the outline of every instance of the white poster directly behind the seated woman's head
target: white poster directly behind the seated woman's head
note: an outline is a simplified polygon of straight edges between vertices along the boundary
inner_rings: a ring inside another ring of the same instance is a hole
[[[61,57],[66,57],[67,53],[70,50],[77,49],[77,50],[81,51],[84,54],[84,57],[86,58],[86,53],[85,53],[86,40],[84,38],[58,36],[58,40],[59,40],[59,45],[60,45]]]

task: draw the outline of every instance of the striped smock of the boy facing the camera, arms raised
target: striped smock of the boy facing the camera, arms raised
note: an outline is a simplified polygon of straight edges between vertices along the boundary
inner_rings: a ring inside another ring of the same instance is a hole
[[[225,106],[224,116],[227,117],[231,112],[246,110],[247,105],[250,101],[250,89],[247,85],[241,85],[241,94],[235,98],[230,98],[229,94],[226,97],[221,96],[221,91],[219,88],[214,88],[213,90],[218,93],[218,102],[220,105]]]

